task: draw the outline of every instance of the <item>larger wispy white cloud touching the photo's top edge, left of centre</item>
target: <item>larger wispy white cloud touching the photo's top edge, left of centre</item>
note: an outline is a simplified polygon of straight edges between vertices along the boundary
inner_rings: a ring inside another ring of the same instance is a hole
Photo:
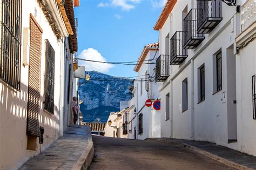
[[[130,11],[135,8],[134,4],[138,4],[140,2],[142,2],[142,0],[111,0],[109,3],[100,2],[98,7],[114,6],[121,8],[123,11]]]

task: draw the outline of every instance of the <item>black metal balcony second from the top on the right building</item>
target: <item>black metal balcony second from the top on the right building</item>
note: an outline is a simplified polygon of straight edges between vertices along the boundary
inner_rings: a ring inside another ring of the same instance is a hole
[[[201,9],[191,9],[184,18],[184,49],[196,49],[196,47],[205,39],[203,34],[197,33],[197,12],[200,10]]]

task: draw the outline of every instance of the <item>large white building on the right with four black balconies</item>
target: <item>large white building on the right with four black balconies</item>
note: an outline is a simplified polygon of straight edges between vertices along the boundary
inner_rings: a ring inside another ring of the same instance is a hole
[[[256,155],[255,2],[225,2],[167,1],[154,26],[160,134]]]

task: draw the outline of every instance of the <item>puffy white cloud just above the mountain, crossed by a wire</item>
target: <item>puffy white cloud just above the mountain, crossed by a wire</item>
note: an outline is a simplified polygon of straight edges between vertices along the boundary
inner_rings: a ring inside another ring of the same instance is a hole
[[[98,50],[95,50],[93,48],[84,49],[80,55],[79,58],[87,59],[87,60],[95,60],[99,62],[106,62],[106,58],[104,58]],[[111,68],[114,67],[113,64],[106,64],[106,63],[96,63],[96,62],[86,62],[83,60],[79,60],[79,65],[85,66],[85,70],[87,71],[99,71],[106,73]]]

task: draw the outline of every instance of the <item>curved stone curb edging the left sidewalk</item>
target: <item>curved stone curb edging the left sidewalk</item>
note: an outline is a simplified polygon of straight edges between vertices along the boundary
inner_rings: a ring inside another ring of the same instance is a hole
[[[78,169],[88,169],[91,165],[92,159],[94,157],[94,147],[92,142],[91,130],[87,128],[87,135],[88,135],[88,145],[85,148],[83,154],[77,160],[76,164],[71,168],[72,170]]]

